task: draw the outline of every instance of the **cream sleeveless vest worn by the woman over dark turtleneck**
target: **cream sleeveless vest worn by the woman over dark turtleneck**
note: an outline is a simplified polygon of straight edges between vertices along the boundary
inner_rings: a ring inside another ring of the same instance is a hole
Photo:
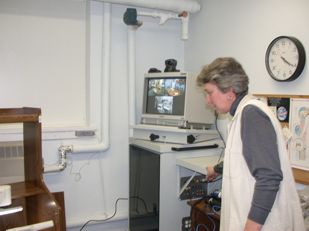
[[[246,95],[237,107],[235,116],[228,125],[222,180],[222,210],[220,231],[243,231],[250,210],[255,179],[250,174],[242,155],[240,121],[243,107],[248,104],[259,107],[270,118],[277,133],[278,152],[283,180],[273,208],[261,230],[305,231],[303,215],[290,167],[290,161],[279,121],[259,100]],[[263,134],[260,134],[263,136]],[[261,146],[261,148],[263,148]],[[267,153],[265,153],[267,155]]]

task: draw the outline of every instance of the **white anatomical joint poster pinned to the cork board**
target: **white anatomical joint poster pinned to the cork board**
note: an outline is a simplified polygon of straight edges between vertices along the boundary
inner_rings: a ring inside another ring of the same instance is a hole
[[[290,163],[309,170],[309,99],[290,99]]]

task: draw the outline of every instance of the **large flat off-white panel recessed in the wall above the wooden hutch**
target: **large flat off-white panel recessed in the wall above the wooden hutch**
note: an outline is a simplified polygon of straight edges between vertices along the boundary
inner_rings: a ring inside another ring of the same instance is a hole
[[[44,124],[84,123],[85,5],[0,2],[1,108],[41,107]]]

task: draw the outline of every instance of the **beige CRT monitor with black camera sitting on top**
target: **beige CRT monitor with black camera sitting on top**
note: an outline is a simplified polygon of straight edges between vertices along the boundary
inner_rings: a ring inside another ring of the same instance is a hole
[[[214,110],[192,72],[147,73],[141,124],[210,129]]]

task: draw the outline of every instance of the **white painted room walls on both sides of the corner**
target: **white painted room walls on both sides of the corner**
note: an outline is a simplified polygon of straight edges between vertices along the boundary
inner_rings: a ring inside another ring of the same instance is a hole
[[[169,20],[164,26],[158,26],[157,19],[138,18],[144,24],[136,32],[137,122],[141,113],[143,74],[151,67],[163,71],[166,59],[176,59],[177,69],[199,72],[202,65],[219,56],[233,56],[243,64],[249,76],[250,93],[308,95],[305,88],[309,82],[307,65],[295,81],[278,83],[267,74],[264,61],[269,43],[281,35],[298,38],[308,49],[308,1],[200,2],[201,11],[190,15],[189,40],[185,42],[180,40],[180,21]],[[86,2],[0,1],[0,106],[41,107],[43,126],[70,123],[84,126],[84,121],[89,120],[86,125],[98,127],[100,139],[100,103],[93,99],[97,97],[100,83],[97,79],[100,60],[97,59],[101,52],[102,6],[101,2],[91,1],[89,17],[94,30],[98,31],[91,46],[98,46],[98,51],[92,51],[95,61],[90,63],[93,69],[87,79]],[[116,200],[127,197],[127,26],[122,21],[126,8],[112,4],[111,147],[95,156],[94,153],[69,155],[73,160],[72,168],[68,166],[64,172],[44,175],[50,191],[65,192],[69,222],[104,214],[108,218],[114,213]],[[85,86],[87,81],[89,88]],[[7,86],[13,84],[17,84],[18,91],[8,90]],[[23,87],[28,91],[23,91]],[[38,90],[40,94],[33,93]],[[87,105],[87,100],[92,100],[88,102],[91,106]],[[69,110],[65,111],[67,108]],[[229,119],[228,115],[219,117],[219,129],[223,133]],[[45,164],[57,162],[57,148],[61,145],[96,142],[96,138],[44,140]],[[80,180],[76,178],[78,172]],[[126,211],[127,202],[119,201],[119,217]],[[127,221],[117,221],[86,226],[83,230],[123,231],[126,228]]]

